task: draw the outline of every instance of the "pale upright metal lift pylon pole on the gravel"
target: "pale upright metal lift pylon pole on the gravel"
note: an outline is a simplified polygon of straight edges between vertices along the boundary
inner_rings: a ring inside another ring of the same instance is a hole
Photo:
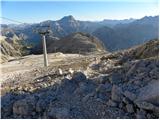
[[[44,66],[48,66],[47,49],[46,49],[46,36],[43,35],[43,55],[44,55]]]

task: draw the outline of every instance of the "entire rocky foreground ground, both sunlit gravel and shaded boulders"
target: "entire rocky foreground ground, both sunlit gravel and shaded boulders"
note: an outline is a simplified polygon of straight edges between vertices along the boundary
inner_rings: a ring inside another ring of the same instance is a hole
[[[2,65],[2,118],[159,118],[158,40],[110,54],[64,55],[58,62],[53,56],[45,69],[32,56],[30,69],[20,74],[11,73],[21,66]],[[17,61],[27,57],[11,62]]]

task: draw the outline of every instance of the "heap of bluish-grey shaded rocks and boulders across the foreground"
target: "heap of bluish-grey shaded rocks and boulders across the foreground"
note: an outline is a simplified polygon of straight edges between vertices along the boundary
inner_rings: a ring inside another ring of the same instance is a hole
[[[72,71],[70,77],[61,72],[58,79],[48,75],[34,80],[35,84],[53,82],[49,86],[5,94],[2,118],[159,118],[158,54],[122,61],[123,55],[102,57],[93,69],[98,75],[92,77],[83,71]]]

